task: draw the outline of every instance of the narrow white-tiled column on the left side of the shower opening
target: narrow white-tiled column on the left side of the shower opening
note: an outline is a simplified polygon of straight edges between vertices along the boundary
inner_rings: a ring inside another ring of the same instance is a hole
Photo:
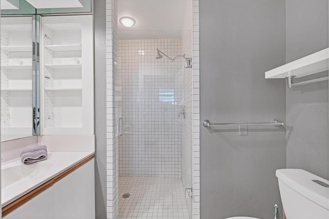
[[[118,137],[115,132],[117,87],[117,0],[106,0],[106,211],[107,218],[117,218],[118,199]]]

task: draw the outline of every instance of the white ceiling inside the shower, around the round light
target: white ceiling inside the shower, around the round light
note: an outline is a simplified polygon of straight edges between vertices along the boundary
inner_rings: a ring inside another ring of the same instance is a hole
[[[130,16],[133,27],[118,22],[119,39],[180,37],[189,0],[118,0],[118,21]],[[192,19],[192,18],[191,18]]]

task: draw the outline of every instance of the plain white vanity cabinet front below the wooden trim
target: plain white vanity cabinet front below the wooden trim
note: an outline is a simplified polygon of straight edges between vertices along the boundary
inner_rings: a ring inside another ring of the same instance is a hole
[[[94,168],[92,159],[4,218],[94,219]]]

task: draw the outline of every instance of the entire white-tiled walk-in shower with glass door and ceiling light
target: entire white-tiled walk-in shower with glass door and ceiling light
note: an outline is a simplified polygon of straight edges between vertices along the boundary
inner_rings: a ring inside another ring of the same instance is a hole
[[[107,218],[199,218],[198,1],[106,9]]]

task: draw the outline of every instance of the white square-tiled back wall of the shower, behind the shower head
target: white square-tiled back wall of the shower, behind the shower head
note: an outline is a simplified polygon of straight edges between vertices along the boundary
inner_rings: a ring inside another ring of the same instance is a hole
[[[120,176],[181,175],[178,113],[184,60],[155,59],[157,48],[175,57],[181,54],[181,40],[119,41]]]

